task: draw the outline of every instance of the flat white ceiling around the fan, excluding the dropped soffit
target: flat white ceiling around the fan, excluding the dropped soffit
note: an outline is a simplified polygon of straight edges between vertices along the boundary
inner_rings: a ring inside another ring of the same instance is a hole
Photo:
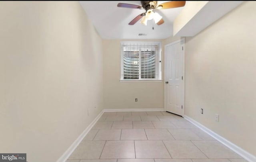
[[[158,5],[168,1],[158,1]],[[149,20],[147,26],[140,21],[134,25],[128,25],[136,16],[145,10],[120,8],[118,3],[136,4],[140,1],[80,1],[86,14],[94,24],[94,27],[103,39],[165,39],[173,35],[173,22],[184,7],[165,10],[154,10],[163,19],[162,25],[156,25]],[[154,30],[152,29],[154,27]],[[138,36],[138,33],[146,33],[146,36]]]

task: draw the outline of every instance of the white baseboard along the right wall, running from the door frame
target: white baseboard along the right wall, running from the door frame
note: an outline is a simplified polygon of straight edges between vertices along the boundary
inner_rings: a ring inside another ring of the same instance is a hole
[[[212,130],[205,127],[204,125],[198,123],[194,119],[192,119],[192,118],[190,118],[186,115],[184,115],[183,117],[186,120],[190,121],[190,123],[194,124],[196,127],[202,129],[202,131],[206,132],[208,135],[212,136],[217,141],[221,142],[222,144],[224,144],[225,146],[227,146],[228,148],[230,148],[231,150],[236,152],[238,155],[242,156],[244,159],[248,160],[248,162],[256,162],[256,156],[254,156],[254,155],[250,154],[249,152],[243,150],[242,148],[240,148],[236,144],[226,140],[225,138],[221,137],[217,133],[215,133]]]

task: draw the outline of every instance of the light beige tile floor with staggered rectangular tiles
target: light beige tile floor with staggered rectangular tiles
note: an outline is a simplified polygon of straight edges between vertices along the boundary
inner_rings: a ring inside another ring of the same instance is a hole
[[[183,117],[105,112],[66,162],[247,162]]]

